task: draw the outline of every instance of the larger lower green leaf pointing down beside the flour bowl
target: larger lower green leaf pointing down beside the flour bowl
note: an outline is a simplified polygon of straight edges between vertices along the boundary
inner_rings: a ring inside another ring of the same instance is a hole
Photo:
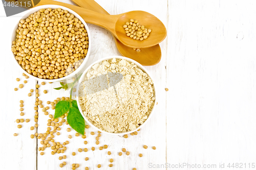
[[[78,133],[84,134],[84,128],[86,128],[86,124],[84,119],[79,112],[79,110],[75,107],[71,107],[69,109],[69,114],[67,116],[67,120],[69,125]]]

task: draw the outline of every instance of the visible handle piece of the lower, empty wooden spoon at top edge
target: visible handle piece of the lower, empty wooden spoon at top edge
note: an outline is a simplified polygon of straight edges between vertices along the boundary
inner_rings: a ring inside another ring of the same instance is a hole
[[[85,9],[89,9],[101,14],[108,14],[108,12],[106,12],[104,10],[104,8],[102,8],[98,3],[96,3],[94,0],[72,0],[72,2],[74,2],[76,5],[78,5],[79,7],[85,8]]]

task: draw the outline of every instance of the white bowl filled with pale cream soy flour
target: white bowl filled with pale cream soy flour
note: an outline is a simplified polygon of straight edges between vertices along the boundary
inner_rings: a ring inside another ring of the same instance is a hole
[[[92,63],[79,79],[76,100],[87,124],[100,132],[126,135],[142,128],[156,107],[150,73],[138,62],[122,57]]]

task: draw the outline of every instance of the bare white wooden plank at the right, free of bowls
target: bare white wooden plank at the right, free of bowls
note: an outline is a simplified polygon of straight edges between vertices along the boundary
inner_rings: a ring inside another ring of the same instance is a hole
[[[253,161],[255,4],[168,6],[167,162]]]

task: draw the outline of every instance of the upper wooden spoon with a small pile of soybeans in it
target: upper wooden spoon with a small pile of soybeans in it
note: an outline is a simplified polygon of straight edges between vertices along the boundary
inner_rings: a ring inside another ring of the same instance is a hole
[[[157,45],[165,39],[167,34],[163,23],[157,17],[145,11],[130,11],[119,15],[106,15],[52,0],[41,0],[36,6],[40,5],[67,7],[80,15],[84,21],[109,30],[121,43],[132,48],[146,48]],[[147,39],[140,41],[126,36],[122,26],[132,18],[136,18],[139,20],[140,25],[144,25],[152,30]]]

